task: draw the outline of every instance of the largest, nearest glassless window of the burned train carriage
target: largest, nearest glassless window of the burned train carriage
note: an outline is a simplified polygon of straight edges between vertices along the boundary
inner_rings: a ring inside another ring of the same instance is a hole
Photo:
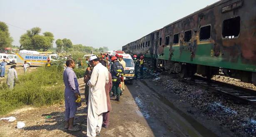
[[[234,39],[240,33],[240,17],[234,17],[223,21],[222,37],[227,39]]]

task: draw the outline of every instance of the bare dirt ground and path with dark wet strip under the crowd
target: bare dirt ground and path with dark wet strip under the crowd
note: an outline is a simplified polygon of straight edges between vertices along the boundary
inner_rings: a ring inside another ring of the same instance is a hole
[[[150,86],[146,86],[145,83]],[[133,85],[126,85],[121,101],[111,100],[109,128],[102,128],[102,137],[215,137],[198,122],[188,117],[175,106],[167,104],[154,91],[149,81],[134,81]],[[158,87],[157,90],[163,90]],[[25,106],[12,113],[0,117],[14,116],[15,122],[0,121],[1,137],[85,137],[87,129],[87,114],[84,111],[84,87],[82,93],[82,107],[77,111],[75,122],[82,127],[79,132],[69,133],[63,127],[64,103],[34,108]],[[180,107],[180,106],[178,106]],[[48,118],[47,118],[48,116]],[[49,118],[50,116],[50,118]],[[18,121],[26,124],[23,129],[17,129]],[[225,136],[229,136],[226,135]]]

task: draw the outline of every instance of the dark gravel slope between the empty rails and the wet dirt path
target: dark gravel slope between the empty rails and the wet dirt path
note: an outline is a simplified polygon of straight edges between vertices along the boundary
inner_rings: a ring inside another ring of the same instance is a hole
[[[226,78],[225,78],[226,79]],[[250,105],[235,104],[223,95],[210,93],[194,85],[161,74],[153,78],[168,94],[190,103],[200,114],[216,120],[238,137],[256,137],[256,113]],[[193,115],[193,112],[188,111]]]

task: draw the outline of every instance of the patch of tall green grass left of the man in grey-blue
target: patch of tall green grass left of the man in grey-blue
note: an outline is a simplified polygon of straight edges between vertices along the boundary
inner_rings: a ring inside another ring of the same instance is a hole
[[[0,85],[0,115],[23,105],[51,105],[64,99],[63,68],[60,66],[40,67],[19,75],[15,88],[9,90],[5,83]]]

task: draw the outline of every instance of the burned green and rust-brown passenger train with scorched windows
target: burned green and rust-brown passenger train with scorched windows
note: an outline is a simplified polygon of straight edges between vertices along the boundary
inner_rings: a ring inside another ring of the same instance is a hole
[[[221,0],[123,46],[182,77],[219,73],[256,84],[256,0]]]

